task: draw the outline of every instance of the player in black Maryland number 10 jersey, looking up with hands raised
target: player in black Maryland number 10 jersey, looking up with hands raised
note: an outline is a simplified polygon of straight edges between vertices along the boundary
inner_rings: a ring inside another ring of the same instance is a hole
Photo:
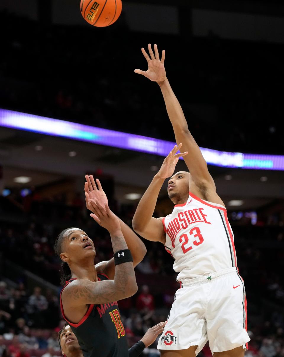
[[[92,176],[87,178],[87,183],[95,185]],[[91,217],[109,231],[114,258],[95,266],[95,247],[87,233],[79,228],[62,231],[55,243],[63,261],[61,311],[84,357],[125,357],[128,345],[117,301],[136,293],[134,266],[143,259],[146,248],[110,211],[99,181],[98,185]]]

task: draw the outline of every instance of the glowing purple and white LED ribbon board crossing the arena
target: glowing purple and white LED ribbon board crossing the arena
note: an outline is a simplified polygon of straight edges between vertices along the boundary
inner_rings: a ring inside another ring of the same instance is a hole
[[[0,109],[0,126],[40,134],[88,141],[94,144],[166,156],[175,142],[153,137],[128,134],[95,126]],[[204,159],[210,165],[258,170],[284,170],[284,155],[243,154],[201,147]]]

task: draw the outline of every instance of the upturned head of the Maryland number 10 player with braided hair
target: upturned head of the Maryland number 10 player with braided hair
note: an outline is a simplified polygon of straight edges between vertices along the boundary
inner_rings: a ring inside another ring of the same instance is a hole
[[[64,229],[55,241],[54,250],[62,260],[62,285],[71,278],[71,271],[94,263],[94,243],[80,228]]]

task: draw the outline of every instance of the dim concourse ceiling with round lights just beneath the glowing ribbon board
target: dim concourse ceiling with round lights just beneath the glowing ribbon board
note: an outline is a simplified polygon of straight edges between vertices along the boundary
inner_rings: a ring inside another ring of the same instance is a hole
[[[70,154],[74,152],[75,155]],[[162,160],[156,155],[87,142],[7,128],[0,130],[2,186],[5,188],[41,187],[72,178],[79,191],[83,187],[84,175],[99,170],[114,177],[117,200],[130,202],[125,194],[142,194]],[[244,201],[242,209],[257,208],[284,197],[284,171],[208,168],[226,205],[228,201],[238,199]],[[178,163],[177,170],[186,170],[183,161]],[[31,182],[16,183],[13,180],[17,176],[29,176]],[[165,183],[161,196],[166,197],[166,186]]]

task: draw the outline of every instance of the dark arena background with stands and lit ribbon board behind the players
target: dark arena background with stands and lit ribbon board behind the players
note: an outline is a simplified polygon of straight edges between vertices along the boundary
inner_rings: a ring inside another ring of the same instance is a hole
[[[98,28],[78,0],[1,0],[0,26],[0,355],[61,356],[53,244],[62,229],[87,231],[95,262],[113,256],[86,210],[84,175],[101,180],[131,226],[171,150],[159,87],[134,73],[146,70],[141,47],[151,43],[166,50],[167,77],[228,209],[246,356],[284,357],[283,2],[124,0],[115,24]],[[172,207],[165,183],[154,214]],[[172,257],[143,241],[139,290],[119,301],[129,346],[166,320],[179,288]],[[143,356],[159,356],[156,344]],[[211,356],[208,345],[200,356]]]

